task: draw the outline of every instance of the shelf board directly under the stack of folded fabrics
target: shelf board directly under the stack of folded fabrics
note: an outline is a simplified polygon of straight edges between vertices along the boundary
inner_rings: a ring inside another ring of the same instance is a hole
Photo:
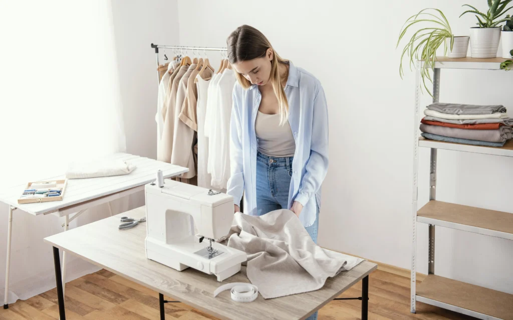
[[[484,155],[513,157],[513,139],[509,140],[502,147],[485,147],[480,145],[443,142],[437,140],[419,138],[419,146],[435,149],[455,150],[462,152],[478,153]]]

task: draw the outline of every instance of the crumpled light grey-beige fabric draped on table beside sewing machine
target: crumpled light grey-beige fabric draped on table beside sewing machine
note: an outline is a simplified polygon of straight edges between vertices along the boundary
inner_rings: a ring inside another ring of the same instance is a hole
[[[319,290],[328,277],[363,261],[317,246],[290,210],[239,212],[233,224],[221,243],[247,253],[246,274],[265,299]]]

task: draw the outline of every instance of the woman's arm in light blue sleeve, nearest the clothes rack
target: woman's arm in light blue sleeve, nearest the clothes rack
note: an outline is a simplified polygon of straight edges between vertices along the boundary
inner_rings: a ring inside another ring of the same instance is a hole
[[[237,103],[235,90],[233,89],[233,105],[230,120],[230,179],[227,184],[227,194],[233,197],[235,204],[235,212],[239,211],[242,194],[244,192],[244,167],[243,167],[243,150],[242,150],[242,122],[241,108]]]

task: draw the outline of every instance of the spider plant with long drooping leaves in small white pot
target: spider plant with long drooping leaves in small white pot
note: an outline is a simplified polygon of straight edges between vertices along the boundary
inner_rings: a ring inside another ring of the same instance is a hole
[[[430,72],[431,69],[435,67],[438,48],[442,45],[444,46],[444,55],[447,54],[447,49],[449,48],[449,57],[451,58],[464,58],[467,55],[468,36],[455,37],[452,34],[449,22],[443,12],[439,9],[427,8],[410,16],[408,20],[406,20],[406,23],[401,28],[397,47],[399,47],[406,32],[419,26],[419,24],[422,24],[422,27],[419,27],[418,30],[413,33],[408,43],[404,46],[401,54],[401,63],[399,65],[399,74],[401,78],[403,78],[403,58],[405,55],[409,58],[410,70],[411,65],[413,65],[415,61],[425,61],[421,67],[421,78],[424,88],[426,88],[429,95],[432,96],[426,84],[426,79],[428,82],[432,82]]]

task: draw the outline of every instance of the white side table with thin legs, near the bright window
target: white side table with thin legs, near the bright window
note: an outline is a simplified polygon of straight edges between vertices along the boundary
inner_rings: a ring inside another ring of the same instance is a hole
[[[11,261],[12,212],[15,209],[28,212],[32,215],[53,213],[59,217],[64,216],[65,222],[63,227],[64,231],[67,231],[71,220],[81,215],[85,210],[98,204],[108,203],[112,215],[110,201],[128,196],[135,192],[144,191],[144,185],[155,180],[156,172],[159,169],[162,171],[164,178],[176,177],[188,171],[187,168],[181,166],[125,153],[116,153],[102,159],[126,160],[134,164],[136,168],[130,174],[124,176],[70,179],[68,180],[66,193],[62,201],[18,204],[17,200],[19,196],[23,194],[27,186],[26,183],[10,186],[0,191],[0,201],[9,205],[4,309],[9,307],[7,297],[9,293],[9,267]],[[54,181],[64,178],[64,176],[58,176],[45,179],[45,181]],[[69,215],[72,213],[75,213],[75,215],[70,218]],[[66,257],[63,254],[63,283],[66,283],[65,259]]]

